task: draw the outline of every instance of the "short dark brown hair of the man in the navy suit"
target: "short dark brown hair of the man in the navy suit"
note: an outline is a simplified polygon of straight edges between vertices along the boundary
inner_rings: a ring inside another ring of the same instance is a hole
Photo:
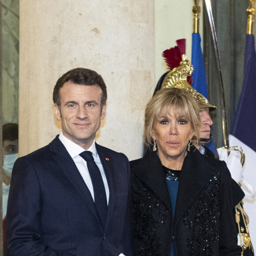
[[[81,85],[98,85],[102,89],[101,109],[106,104],[107,88],[102,76],[88,68],[74,68],[62,75],[53,90],[53,102],[60,107],[60,88],[64,83],[72,82]]]

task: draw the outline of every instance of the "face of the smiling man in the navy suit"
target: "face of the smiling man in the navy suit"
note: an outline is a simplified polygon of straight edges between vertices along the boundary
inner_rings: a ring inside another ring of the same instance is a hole
[[[101,111],[101,99],[102,90],[98,85],[66,82],[60,88],[60,108],[54,105],[55,117],[61,120],[63,135],[86,150],[105,117],[106,105]]]

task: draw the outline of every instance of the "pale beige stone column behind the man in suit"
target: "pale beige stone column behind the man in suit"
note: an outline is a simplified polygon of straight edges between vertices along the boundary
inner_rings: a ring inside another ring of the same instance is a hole
[[[154,1],[20,1],[20,156],[60,133],[53,87],[76,67],[97,71],[107,85],[97,142],[141,157],[144,107],[154,91]]]

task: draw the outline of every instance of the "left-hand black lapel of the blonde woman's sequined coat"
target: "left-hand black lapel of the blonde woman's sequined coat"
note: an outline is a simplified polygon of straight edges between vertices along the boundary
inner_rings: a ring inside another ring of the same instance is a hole
[[[172,211],[172,204],[166,184],[166,174],[162,163],[158,158],[157,151],[148,149],[138,166],[135,174],[139,177],[154,193],[156,193]]]

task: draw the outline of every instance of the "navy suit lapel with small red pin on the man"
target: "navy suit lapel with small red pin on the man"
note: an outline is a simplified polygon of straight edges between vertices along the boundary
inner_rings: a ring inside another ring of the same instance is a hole
[[[107,155],[105,153],[105,151],[103,150],[103,148],[98,145],[97,143],[95,143],[96,145],[96,149],[98,152],[98,155],[101,159],[102,162],[102,166],[107,178],[107,182],[108,182],[108,186],[109,186],[109,205],[108,205],[108,215],[107,215],[107,219],[106,219],[106,223],[105,223],[105,228],[107,228],[108,224],[109,224],[109,220],[110,220],[110,216],[112,214],[112,211],[114,209],[114,188],[113,188],[113,160],[111,157],[109,157],[109,155]],[[108,159],[108,160],[107,160]]]

